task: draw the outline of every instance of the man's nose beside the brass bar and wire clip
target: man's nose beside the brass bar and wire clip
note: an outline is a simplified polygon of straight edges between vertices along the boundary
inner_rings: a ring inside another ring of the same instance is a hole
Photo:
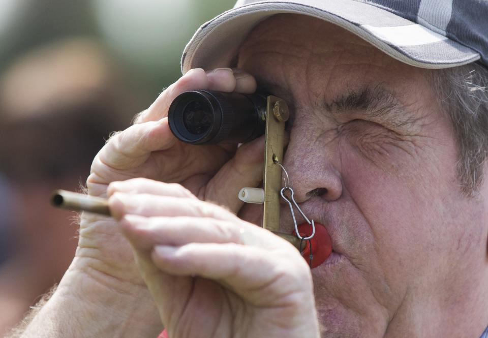
[[[334,201],[342,195],[342,180],[334,165],[334,151],[316,142],[290,140],[284,159],[295,200],[302,203],[314,196]]]

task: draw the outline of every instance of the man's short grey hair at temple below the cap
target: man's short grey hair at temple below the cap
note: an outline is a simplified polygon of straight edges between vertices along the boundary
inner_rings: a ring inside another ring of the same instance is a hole
[[[488,158],[488,68],[478,63],[434,72],[434,85],[451,119],[462,191],[475,195]]]

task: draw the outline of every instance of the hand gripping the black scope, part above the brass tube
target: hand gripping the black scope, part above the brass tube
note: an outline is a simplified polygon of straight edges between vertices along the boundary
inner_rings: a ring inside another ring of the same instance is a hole
[[[257,186],[262,179],[263,140],[246,144],[237,152],[235,145],[191,145],[173,136],[166,117],[171,102],[183,91],[253,93],[254,78],[235,72],[228,68],[209,73],[194,69],[165,89],[139,114],[134,126],[110,138],[98,153],[87,180],[90,195],[104,195],[108,183],[114,180],[145,177],[181,183],[199,198],[237,212],[242,205],[237,199],[242,183]]]

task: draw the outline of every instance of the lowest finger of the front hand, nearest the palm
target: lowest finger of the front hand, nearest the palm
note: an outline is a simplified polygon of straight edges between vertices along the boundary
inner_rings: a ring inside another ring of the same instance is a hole
[[[310,268],[296,250],[270,252],[235,243],[190,243],[156,246],[151,259],[171,275],[222,281],[256,305],[272,304],[283,295],[312,289]]]

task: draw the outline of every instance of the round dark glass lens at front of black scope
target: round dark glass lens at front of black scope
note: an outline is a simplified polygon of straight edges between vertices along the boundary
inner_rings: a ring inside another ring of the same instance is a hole
[[[206,102],[192,101],[183,110],[183,125],[193,135],[206,133],[214,121],[212,108]]]

